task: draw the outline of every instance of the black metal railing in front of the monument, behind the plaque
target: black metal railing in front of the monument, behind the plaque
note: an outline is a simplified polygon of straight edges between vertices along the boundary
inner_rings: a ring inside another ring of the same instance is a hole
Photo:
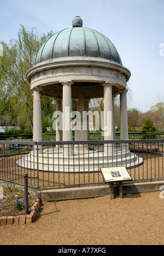
[[[126,166],[133,182],[164,179],[164,139],[0,142],[0,180],[34,188],[104,184],[101,167]],[[0,182],[1,183],[1,182]]]

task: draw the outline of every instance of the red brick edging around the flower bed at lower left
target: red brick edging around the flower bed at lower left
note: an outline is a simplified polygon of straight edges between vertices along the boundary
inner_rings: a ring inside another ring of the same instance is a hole
[[[13,225],[13,224],[31,224],[37,217],[40,208],[40,199],[37,197],[36,202],[31,207],[31,213],[28,215],[20,216],[3,216],[0,218],[0,225]]]

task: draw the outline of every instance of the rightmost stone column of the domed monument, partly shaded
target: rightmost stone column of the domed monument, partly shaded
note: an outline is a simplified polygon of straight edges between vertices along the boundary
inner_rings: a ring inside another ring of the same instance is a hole
[[[121,139],[128,139],[128,124],[127,124],[127,90],[120,92],[120,132]],[[122,149],[128,150],[128,144]]]

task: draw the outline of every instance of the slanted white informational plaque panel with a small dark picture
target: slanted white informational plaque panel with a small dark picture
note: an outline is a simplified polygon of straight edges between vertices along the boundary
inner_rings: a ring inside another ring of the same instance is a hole
[[[132,181],[125,166],[100,168],[104,182]]]

